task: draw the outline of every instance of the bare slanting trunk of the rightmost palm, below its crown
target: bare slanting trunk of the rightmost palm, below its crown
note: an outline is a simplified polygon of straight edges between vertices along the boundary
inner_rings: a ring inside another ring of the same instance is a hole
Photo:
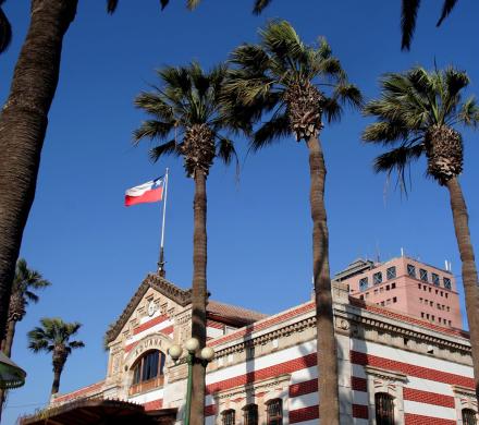
[[[472,352],[474,381],[476,397],[479,400],[479,320],[477,317],[479,314],[479,293],[474,247],[470,242],[469,217],[457,178],[449,180],[446,186],[450,192],[454,230],[456,232],[457,245],[460,253],[463,286]]]

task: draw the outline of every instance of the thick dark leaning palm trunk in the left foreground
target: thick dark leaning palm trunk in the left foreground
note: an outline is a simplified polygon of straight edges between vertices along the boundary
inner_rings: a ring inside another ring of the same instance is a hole
[[[32,20],[0,114],[0,338],[60,70],[78,0],[32,0]]]

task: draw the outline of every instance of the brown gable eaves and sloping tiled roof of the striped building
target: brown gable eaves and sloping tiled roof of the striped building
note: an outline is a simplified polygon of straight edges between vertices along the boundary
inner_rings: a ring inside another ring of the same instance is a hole
[[[174,283],[164,279],[164,277],[159,275],[147,275],[144,281],[139,284],[135,294],[131,299],[130,303],[123,309],[123,313],[114,321],[110,329],[106,333],[106,342],[110,343],[113,341],[121,332],[123,327],[128,321],[135,308],[138,306],[139,302],[143,300],[145,293],[148,289],[155,289],[164,296],[173,300],[175,303],[180,304],[182,307],[192,303],[192,290],[183,290],[176,287]],[[208,317],[216,319],[218,321],[231,324],[233,326],[242,327],[245,325],[250,325],[257,320],[260,320],[267,315],[254,312],[251,309],[237,307],[230,304],[220,303],[218,301],[209,300],[207,304]]]

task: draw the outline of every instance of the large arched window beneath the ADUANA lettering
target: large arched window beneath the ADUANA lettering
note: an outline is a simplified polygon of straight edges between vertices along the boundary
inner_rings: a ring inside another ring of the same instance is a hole
[[[147,391],[163,385],[164,354],[159,350],[147,351],[133,365],[130,394]]]

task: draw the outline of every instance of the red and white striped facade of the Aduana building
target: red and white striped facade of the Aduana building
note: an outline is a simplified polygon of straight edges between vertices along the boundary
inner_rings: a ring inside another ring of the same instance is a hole
[[[148,277],[108,333],[107,378],[58,396],[52,403],[84,397],[120,398],[147,409],[177,408],[184,414],[186,365],[167,360],[164,376],[132,393],[132,367],[152,349],[167,352],[189,338],[188,291]],[[214,318],[212,318],[214,316]],[[266,423],[269,400],[281,399],[283,424],[318,423],[316,324],[312,302],[245,327],[218,313],[208,320],[208,344],[216,357],[207,368],[206,423],[221,413],[258,405]],[[462,424],[462,410],[477,412],[468,336],[349,298],[334,287],[334,320],[340,369],[342,424],[376,424],[374,394],[394,398],[396,424]],[[226,331],[226,333],[225,333]]]

